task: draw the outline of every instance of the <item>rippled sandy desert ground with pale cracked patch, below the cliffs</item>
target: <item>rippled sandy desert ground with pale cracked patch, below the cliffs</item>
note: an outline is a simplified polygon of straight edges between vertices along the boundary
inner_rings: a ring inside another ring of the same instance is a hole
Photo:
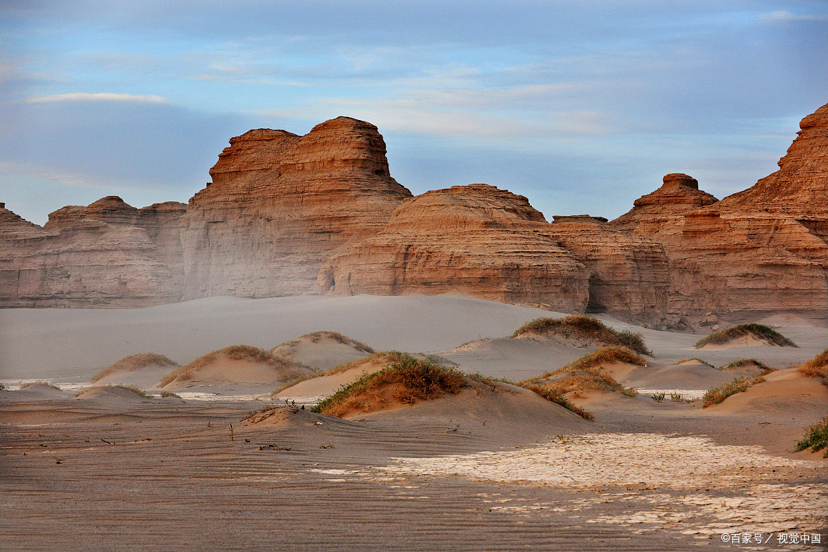
[[[824,550],[828,460],[791,450],[828,412],[828,387],[784,368],[828,347],[828,329],[795,317],[774,322],[800,348],[715,351],[693,349],[698,335],[605,318],[641,331],[653,350],[647,367],[615,367],[625,386],[704,391],[734,377],[677,363],[692,357],[783,369],[707,409],[589,391],[577,402],[594,422],[507,385],[349,420],[300,410],[307,401],[248,400],[269,391],[250,382],[200,382],[176,389],[182,398],[116,388],[74,396],[128,354],[184,363],[320,330],[523,379],[592,350],[504,338],[548,315],[460,297],[364,295],[0,311],[0,380],[71,391],[0,391],[2,549]],[[490,339],[461,347],[481,338]],[[325,347],[303,344],[301,354],[327,358]],[[300,385],[307,398],[343,383],[328,380]],[[242,421],[268,405],[282,410]],[[823,544],[779,545],[780,532],[820,534]],[[768,542],[736,546],[724,534]]]

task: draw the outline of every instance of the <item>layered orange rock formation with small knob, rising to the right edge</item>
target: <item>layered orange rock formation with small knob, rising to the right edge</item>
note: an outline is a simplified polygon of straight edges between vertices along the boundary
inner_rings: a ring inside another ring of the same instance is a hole
[[[697,184],[666,190],[667,175],[610,223],[664,246],[674,322],[828,314],[828,105],[801,126],[780,169],[749,190],[715,202]]]

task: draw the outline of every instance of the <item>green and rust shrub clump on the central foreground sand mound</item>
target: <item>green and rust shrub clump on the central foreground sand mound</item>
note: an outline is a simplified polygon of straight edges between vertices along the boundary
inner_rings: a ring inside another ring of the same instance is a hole
[[[464,374],[453,368],[419,360],[407,353],[392,352],[388,356],[394,359],[387,367],[343,386],[311,410],[332,416],[344,415],[349,410],[370,412],[380,410],[391,401],[413,404],[445,393],[454,394],[465,385]]]

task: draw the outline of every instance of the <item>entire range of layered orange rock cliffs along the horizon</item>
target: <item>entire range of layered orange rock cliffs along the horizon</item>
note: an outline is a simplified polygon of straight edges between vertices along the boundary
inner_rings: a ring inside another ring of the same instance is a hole
[[[801,127],[777,172],[721,201],[671,174],[614,221],[553,223],[489,185],[412,197],[368,122],[256,129],[186,205],[108,196],[41,228],[0,204],[0,306],[453,293],[675,329],[828,318],[828,105]]]

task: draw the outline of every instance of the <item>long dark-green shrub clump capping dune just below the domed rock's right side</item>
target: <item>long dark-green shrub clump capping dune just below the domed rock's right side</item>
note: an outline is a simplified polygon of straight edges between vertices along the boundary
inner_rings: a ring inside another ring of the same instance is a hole
[[[570,314],[564,318],[538,318],[518,328],[513,338],[524,334],[556,334],[565,338],[590,339],[607,345],[619,345],[640,354],[652,354],[644,343],[642,334],[628,330],[616,331],[599,319],[586,314]]]

